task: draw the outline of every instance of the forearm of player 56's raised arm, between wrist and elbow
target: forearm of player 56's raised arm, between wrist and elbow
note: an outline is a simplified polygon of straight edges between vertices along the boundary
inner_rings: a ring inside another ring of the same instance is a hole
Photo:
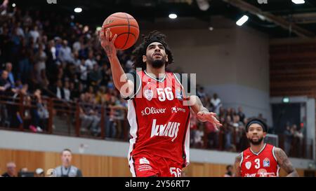
[[[117,55],[109,56],[113,83],[118,90],[121,90],[121,87],[127,83],[127,76],[124,72]]]

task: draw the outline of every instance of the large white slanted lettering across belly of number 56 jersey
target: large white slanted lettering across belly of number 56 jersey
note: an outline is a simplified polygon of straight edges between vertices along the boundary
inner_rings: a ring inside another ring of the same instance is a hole
[[[168,122],[168,124],[157,125],[157,120],[152,120],[152,134],[150,138],[154,136],[168,136],[173,138],[171,141],[174,141],[178,136],[179,127],[179,122]]]

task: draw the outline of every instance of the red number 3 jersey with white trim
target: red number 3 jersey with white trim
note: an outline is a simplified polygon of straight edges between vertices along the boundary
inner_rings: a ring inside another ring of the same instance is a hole
[[[275,157],[275,146],[265,143],[259,153],[254,153],[251,148],[242,152],[240,162],[241,176],[243,177],[267,177],[279,176],[279,165]]]

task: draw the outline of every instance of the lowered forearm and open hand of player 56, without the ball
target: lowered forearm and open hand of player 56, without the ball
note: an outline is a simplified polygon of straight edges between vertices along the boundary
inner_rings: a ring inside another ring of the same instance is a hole
[[[205,108],[202,104],[201,99],[199,97],[192,95],[190,96],[190,106],[192,110],[197,115],[197,119],[201,122],[211,122],[214,127],[221,127],[222,125],[216,119],[216,113],[209,112],[207,108]]]

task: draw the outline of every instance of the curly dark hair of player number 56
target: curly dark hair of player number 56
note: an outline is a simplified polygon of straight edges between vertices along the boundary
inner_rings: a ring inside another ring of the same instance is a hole
[[[144,64],[143,62],[143,55],[146,55],[146,50],[147,50],[147,46],[150,45],[150,43],[152,42],[159,42],[162,43],[162,45],[164,45],[164,48],[166,50],[166,55],[168,55],[168,62],[166,62],[166,66],[168,66],[168,64],[172,64],[173,63],[173,55],[171,53],[171,50],[169,48],[169,45],[166,43],[166,35],[162,34],[159,31],[151,31],[150,34],[148,34],[147,36],[142,35],[143,37],[143,43],[141,43],[140,45],[138,45],[138,47],[133,50],[132,52],[132,59],[133,59],[133,66],[136,68],[142,68],[142,70],[146,69],[146,64]]]

